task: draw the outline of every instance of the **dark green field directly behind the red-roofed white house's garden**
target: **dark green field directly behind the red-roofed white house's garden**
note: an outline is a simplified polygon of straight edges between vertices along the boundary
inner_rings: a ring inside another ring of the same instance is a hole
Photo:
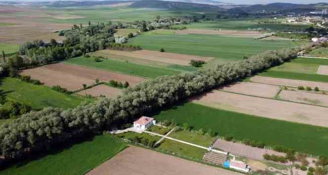
[[[185,103],[154,116],[156,120],[188,123],[195,130],[212,129],[219,135],[260,140],[267,145],[283,145],[300,152],[328,156],[328,128],[272,120],[237,112]]]

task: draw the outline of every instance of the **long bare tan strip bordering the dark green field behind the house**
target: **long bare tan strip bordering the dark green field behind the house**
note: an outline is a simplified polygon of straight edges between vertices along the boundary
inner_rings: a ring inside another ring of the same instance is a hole
[[[328,108],[213,90],[195,103],[277,120],[328,127]]]

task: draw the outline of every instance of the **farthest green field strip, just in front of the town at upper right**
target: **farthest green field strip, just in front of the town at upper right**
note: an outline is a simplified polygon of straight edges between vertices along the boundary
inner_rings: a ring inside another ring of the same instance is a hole
[[[309,25],[294,24],[258,24],[254,19],[243,20],[223,20],[223,21],[205,21],[202,23],[193,23],[191,25],[177,25],[176,27],[187,27],[188,29],[225,29],[225,30],[247,30],[256,28],[269,28],[271,30],[285,29],[306,29]]]

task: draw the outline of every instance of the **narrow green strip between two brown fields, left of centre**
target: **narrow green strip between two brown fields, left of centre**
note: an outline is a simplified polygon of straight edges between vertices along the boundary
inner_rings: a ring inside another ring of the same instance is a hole
[[[146,78],[156,78],[160,76],[171,76],[181,73],[181,71],[176,71],[172,69],[159,68],[145,66],[141,64],[134,64],[130,62],[117,61],[111,59],[102,59],[101,62],[95,62],[92,57],[77,57],[64,61],[65,63],[76,64],[81,66],[86,66],[89,68],[103,69],[113,72],[119,72],[122,74],[128,74],[139,77]]]

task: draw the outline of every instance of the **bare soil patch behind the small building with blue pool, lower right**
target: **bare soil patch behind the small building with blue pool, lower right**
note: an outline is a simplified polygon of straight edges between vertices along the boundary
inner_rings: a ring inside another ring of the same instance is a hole
[[[264,154],[270,154],[270,155],[276,154],[276,155],[285,156],[285,153],[280,153],[268,149],[251,147],[242,143],[234,143],[222,139],[217,139],[214,142],[213,147],[224,150],[225,152],[230,152],[234,155],[243,156],[248,159],[254,159],[254,160],[264,160],[263,158]]]

